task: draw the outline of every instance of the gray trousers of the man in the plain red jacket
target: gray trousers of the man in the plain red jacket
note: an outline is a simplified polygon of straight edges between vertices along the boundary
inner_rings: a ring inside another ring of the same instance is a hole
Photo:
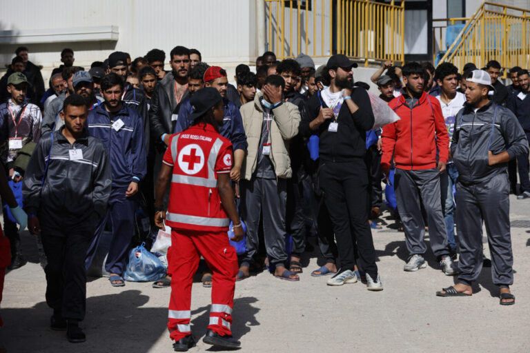
[[[396,168],[394,184],[395,201],[403,222],[409,255],[425,254],[427,251],[424,241],[426,224],[429,225],[431,249],[435,256],[441,258],[449,254],[440,194],[440,171],[436,168],[424,170]],[[426,214],[426,224],[422,210]],[[460,219],[458,221],[460,222]]]

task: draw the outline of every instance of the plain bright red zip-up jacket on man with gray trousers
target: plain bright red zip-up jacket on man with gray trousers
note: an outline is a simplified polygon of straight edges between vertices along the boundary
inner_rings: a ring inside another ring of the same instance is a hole
[[[438,99],[425,92],[409,108],[402,95],[389,102],[401,118],[386,125],[382,133],[381,165],[389,167],[392,155],[395,168],[422,170],[436,168],[436,147],[440,150],[440,161],[449,158],[449,135]]]

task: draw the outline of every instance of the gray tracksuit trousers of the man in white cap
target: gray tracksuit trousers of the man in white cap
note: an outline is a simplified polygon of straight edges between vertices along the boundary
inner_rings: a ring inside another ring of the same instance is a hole
[[[460,238],[458,280],[470,285],[482,270],[482,219],[491,253],[495,285],[513,284],[509,181],[505,173],[482,183],[456,183],[456,228]]]

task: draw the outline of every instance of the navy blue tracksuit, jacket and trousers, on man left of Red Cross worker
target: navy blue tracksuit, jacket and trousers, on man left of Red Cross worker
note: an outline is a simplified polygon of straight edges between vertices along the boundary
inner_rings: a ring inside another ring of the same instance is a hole
[[[123,105],[112,118],[105,104],[100,104],[88,114],[87,125],[90,135],[106,145],[112,169],[112,192],[108,200],[108,210],[98,225],[95,239],[88,250],[86,267],[90,266],[101,234],[110,222],[112,241],[107,256],[105,270],[122,274],[127,262],[127,252],[133,238],[137,194],[126,197],[125,193],[132,181],[139,183],[146,176],[146,150],[142,118],[132,108]],[[123,125],[121,125],[121,123]],[[121,126],[113,124],[118,123]]]

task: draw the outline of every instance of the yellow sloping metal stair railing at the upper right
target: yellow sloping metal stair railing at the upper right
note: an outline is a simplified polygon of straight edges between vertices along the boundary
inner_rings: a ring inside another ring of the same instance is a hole
[[[478,67],[497,60],[504,69],[527,68],[530,61],[530,10],[484,2],[460,31],[440,63],[451,62],[462,71],[466,63]]]

